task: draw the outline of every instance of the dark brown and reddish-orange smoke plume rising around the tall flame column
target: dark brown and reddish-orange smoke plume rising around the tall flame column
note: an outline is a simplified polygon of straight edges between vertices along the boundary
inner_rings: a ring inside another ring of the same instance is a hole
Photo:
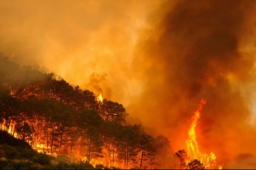
[[[244,97],[242,89],[253,82],[255,57],[244,47],[254,34],[256,2],[168,3],[137,45],[134,70],[145,70],[137,76],[145,90],[130,105],[132,114],[169,136],[174,149],[183,149],[190,117],[206,99],[197,126],[201,151],[214,151],[220,163],[252,153],[251,96]]]

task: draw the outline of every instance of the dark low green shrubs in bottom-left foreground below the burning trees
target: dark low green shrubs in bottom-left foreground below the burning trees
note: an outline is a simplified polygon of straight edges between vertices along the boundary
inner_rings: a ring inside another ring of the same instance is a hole
[[[69,158],[64,160],[38,153],[26,142],[15,139],[6,131],[0,131],[0,136],[1,169],[107,169],[101,164],[93,168],[90,163],[72,162]]]

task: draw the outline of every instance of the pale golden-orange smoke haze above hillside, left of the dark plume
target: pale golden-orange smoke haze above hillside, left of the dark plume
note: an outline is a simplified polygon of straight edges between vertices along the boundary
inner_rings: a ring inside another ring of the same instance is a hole
[[[135,0],[3,0],[0,52],[126,104],[137,94],[136,80],[127,80],[137,32],[158,6],[159,1]]]

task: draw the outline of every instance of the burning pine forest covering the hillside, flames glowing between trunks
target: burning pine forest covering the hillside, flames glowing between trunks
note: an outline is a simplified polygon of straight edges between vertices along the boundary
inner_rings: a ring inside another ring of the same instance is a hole
[[[0,56],[1,131],[32,149],[92,165],[164,168],[171,155],[165,136],[150,136],[126,122],[126,108],[55,74],[20,66]]]

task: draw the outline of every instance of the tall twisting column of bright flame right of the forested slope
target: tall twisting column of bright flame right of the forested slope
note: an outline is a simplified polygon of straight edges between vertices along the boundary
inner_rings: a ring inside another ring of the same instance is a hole
[[[196,135],[196,126],[198,119],[200,118],[200,112],[202,106],[206,104],[205,100],[201,100],[197,111],[194,113],[192,117],[192,125],[188,131],[188,139],[186,140],[187,143],[187,154],[189,155],[190,159],[197,159],[200,160],[201,163],[204,164],[205,168],[211,169],[211,168],[219,168],[221,169],[221,166],[218,166],[216,164],[216,155],[212,152],[210,154],[201,154],[198,144],[197,144],[197,135]]]

